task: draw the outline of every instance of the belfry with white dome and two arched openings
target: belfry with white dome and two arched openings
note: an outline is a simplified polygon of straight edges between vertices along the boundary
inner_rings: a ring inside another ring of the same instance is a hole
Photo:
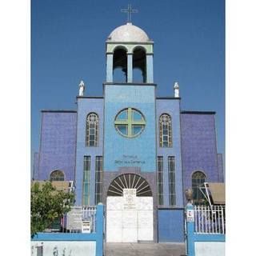
[[[130,21],[113,30],[106,40],[106,83],[154,83],[153,45]]]

